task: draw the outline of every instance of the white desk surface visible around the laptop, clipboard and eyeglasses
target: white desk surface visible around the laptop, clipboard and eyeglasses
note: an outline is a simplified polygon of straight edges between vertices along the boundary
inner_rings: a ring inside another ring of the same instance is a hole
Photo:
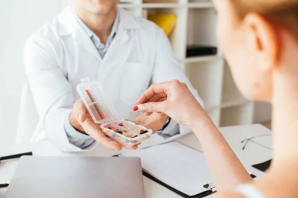
[[[256,163],[261,163],[272,158],[272,151],[268,148],[264,148],[252,142],[246,145],[246,148],[242,150],[242,140],[251,138],[262,134],[270,134],[271,131],[260,124],[246,125],[246,126],[234,126],[234,127],[222,127],[220,131],[224,135],[224,138],[236,153],[240,161],[245,166],[250,166]],[[150,141],[149,141],[150,140]],[[148,140],[148,143],[143,143],[142,147],[161,143],[159,138],[152,136]],[[189,147],[201,150],[200,143],[196,136],[191,133],[186,136],[180,137],[177,141],[188,145]],[[254,139],[254,141],[272,148],[272,137],[264,136]],[[16,154],[21,152],[32,151],[33,155],[44,155],[44,156],[112,156],[119,152],[104,148],[98,145],[91,151],[88,152],[62,152],[55,148],[50,142],[30,143],[30,144],[7,144],[0,145],[0,156]],[[9,183],[13,172],[16,168],[18,159],[5,160],[0,163],[0,184]],[[156,182],[143,177],[145,184],[146,198],[181,198],[179,195],[166,189],[165,187],[157,184]],[[6,188],[0,189],[0,198],[3,198],[6,192]],[[214,197],[214,195],[208,198]]]

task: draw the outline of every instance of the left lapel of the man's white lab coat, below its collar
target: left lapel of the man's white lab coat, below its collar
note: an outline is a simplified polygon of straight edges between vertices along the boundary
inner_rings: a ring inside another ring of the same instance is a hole
[[[74,41],[76,41],[82,48],[89,51],[99,62],[102,61],[95,45],[91,41],[90,37],[82,30],[78,28],[77,31],[73,33]]]

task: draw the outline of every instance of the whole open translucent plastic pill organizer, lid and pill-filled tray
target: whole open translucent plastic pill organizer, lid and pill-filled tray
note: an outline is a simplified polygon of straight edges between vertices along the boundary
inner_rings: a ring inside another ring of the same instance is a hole
[[[125,119],[117,119],[118,113],[99,81],[81,79],[76,86],[80,98],[87,107],[93,121],[109,137],[133,146],[148,139],[152,130]]]

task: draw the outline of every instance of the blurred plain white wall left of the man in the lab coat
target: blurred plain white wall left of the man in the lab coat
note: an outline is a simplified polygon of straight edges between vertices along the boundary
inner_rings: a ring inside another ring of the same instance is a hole
[[[14,143],[26,39],[55,17],[62,0],[0,0],[0,144]]]

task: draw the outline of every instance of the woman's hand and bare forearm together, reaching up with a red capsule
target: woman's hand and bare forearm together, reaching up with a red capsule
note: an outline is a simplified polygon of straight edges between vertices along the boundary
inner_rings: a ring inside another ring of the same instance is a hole
[[[162,112],[188,126],[201,142],[206,162],[218,191],[250,183],[249,176],[207,113],[184,83],[177,80],[154,84],[137,101],[147,114]]]

